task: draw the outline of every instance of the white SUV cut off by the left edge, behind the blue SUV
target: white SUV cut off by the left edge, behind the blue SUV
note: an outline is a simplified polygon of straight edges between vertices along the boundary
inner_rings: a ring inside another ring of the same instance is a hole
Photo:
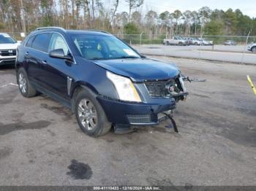
[[[9,34],[0,33],[0,65],[15,64],[18,45]]]

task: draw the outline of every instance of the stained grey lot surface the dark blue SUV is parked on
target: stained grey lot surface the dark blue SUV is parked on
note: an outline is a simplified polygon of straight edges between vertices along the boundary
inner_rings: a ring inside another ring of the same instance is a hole
[[[56,101],[23,98],[1,66],[0,185],[256,185],[256,66],[161,59],[207,79],[186,82],[179,135],[162,122],[93,139]]]

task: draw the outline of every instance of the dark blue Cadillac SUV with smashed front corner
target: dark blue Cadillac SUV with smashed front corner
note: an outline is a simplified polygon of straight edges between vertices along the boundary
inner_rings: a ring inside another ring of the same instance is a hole
[[[15,69],[24,97],[44,93],[68,106],[89,136],[157,125],[187,95],[174,64],[105,31],[37,28],[18,47]]]

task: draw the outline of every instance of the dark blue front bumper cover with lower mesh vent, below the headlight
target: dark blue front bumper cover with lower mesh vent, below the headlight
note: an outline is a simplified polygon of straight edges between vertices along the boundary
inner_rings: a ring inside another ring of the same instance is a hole
[[[158,114],[175,109],[176,106],[173,98],[156,98],[151,104],[116,101],[102,96],[98,96],[97,100],[108,121],[116,125],[157,125]]]

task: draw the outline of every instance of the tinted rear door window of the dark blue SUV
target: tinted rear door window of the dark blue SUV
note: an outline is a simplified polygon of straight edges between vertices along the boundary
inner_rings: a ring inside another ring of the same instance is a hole
[[[40,50],[42,52],[48,52],[48,45],[50,42],[50,34],[37,34],[32,42],[32,48]]]

